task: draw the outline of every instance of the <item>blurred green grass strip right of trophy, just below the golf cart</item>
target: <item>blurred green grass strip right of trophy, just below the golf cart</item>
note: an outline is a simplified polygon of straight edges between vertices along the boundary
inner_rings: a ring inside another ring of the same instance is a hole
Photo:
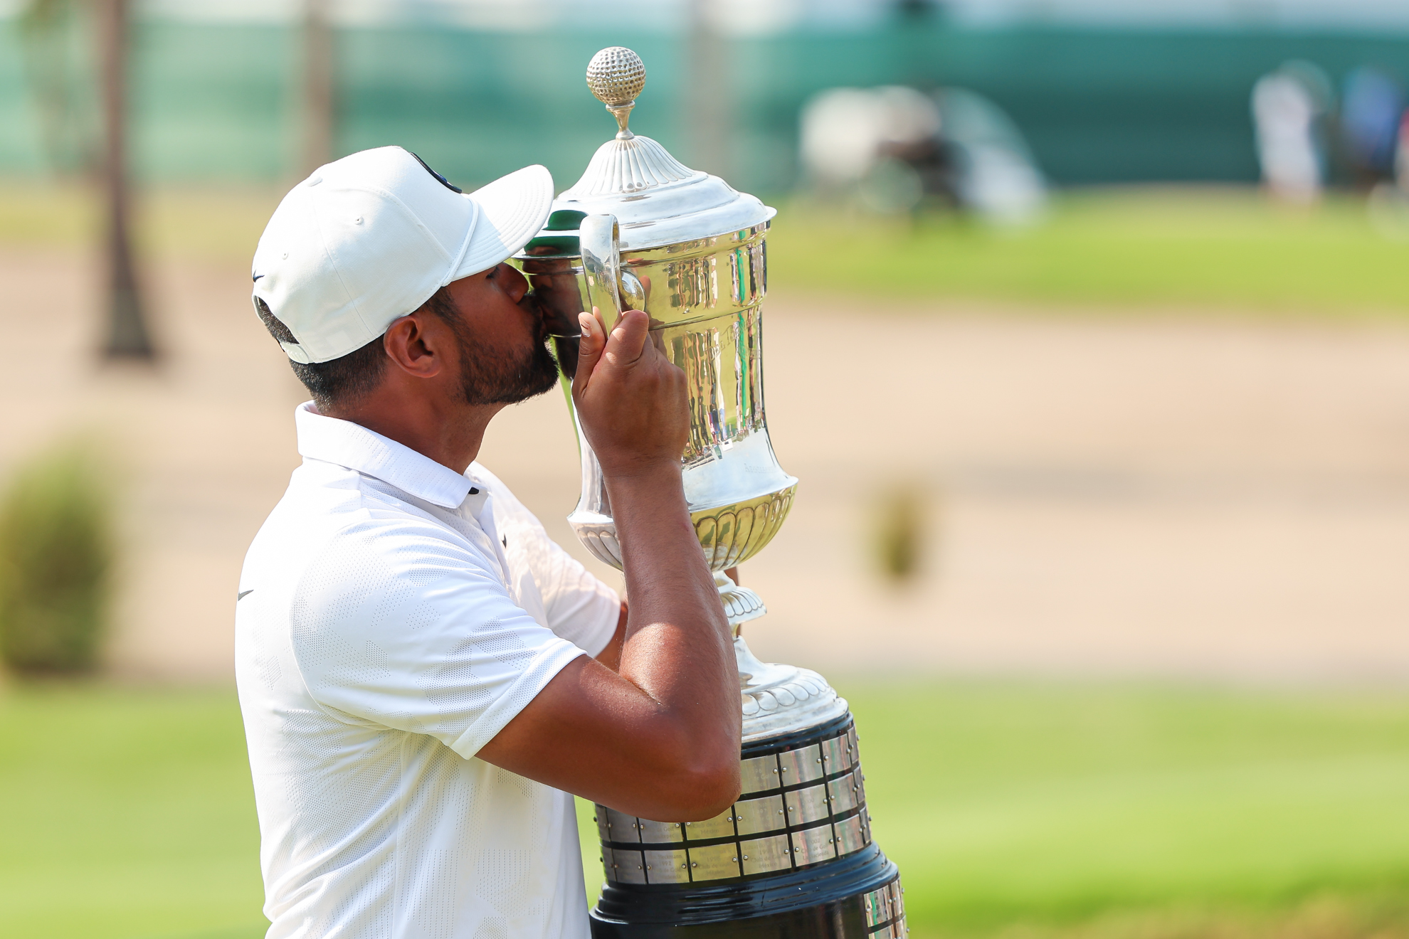
[[[799,201],[779,214],[768,256],[776,293],[1409,313],[1409,244],[1377,231],[1350,196],[1295,210],[1233,187],[1071,191],[1023,229],[847,218]]]

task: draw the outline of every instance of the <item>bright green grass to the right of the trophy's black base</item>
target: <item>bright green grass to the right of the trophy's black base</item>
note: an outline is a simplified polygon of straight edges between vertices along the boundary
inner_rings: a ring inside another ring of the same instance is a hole
[[[1409,886],[1402,697],[841,690],[919,926],[1265,912]]]

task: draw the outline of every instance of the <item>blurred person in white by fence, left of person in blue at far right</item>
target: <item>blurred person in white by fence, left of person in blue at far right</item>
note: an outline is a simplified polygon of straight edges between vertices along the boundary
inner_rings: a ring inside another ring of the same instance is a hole
[[[1268,190],[1292,203],[1320,197],[1330,82],[1309,62],[1288,62],[1253,86],[1257,159]]]

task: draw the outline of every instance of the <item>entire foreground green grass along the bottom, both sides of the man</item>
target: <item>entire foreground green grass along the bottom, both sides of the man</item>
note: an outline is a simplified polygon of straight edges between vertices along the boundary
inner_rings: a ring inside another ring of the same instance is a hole
[[[1409,936],[1409,695],[840,687],[920,938]],[[0,936],[262,935],[232,691],[11,686],[0,800]]]

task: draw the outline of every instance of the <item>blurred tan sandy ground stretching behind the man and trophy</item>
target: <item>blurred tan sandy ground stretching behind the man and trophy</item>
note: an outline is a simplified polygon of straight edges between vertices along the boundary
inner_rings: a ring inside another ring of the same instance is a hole
[[[92,428],[127,480],[110,659],[225,677],[240,559],[296,465],[299,387],[223,266],[151,272],[170,351],[99,370],[86,259],[0,253],[8,465]],[[848,314],[775,298],[768,408],[796,508],[744,574],[764,657],[831,672],[1409,677],[1409,328]],[[483,460],[562,515],[562,401],[509,410]],[[923,576],[882,583],[874,493],[931,494]]]

